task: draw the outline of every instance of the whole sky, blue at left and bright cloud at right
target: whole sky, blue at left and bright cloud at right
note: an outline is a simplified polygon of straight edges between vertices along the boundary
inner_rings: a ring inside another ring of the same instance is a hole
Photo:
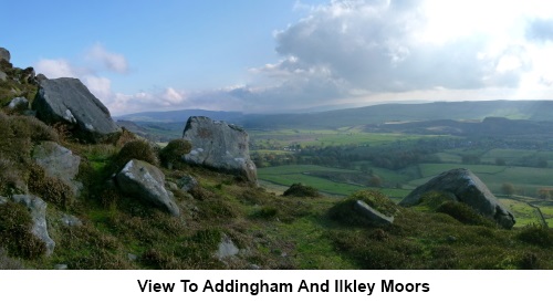
[[[15,66],[112,112],[553,98],[553,1],[0,0]]]

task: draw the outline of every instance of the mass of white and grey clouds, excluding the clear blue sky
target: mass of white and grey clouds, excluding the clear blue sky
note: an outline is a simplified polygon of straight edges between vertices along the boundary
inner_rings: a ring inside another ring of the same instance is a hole
[[[247,84],[187,92],[114,93],[102,72],[126,74],[102,44],[95,67],[43,60],[49,76],[79,76],[115,113],[205,108],[291,112],[387,101],[551,98],[553,3],[546,1],[332,0],[296,2],[304,18],[273,33],[278,62],[252,66]],[[268,50],[270,51],[270,50]]]

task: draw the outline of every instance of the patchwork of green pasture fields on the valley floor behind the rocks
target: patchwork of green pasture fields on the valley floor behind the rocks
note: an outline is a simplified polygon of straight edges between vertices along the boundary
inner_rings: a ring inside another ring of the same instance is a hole
[[[430,136],[432,137],[432,136]],[[261,155],[294,155],[296,150],[283,150],[284,147],[305,148],[315,146],[386,146],[398,142],[416,142],[421,135],[372,134],[358,128],[337,130],[274,130],[253,132],[253,140],[260,149],[252,153]],[[299,146],[298,146],[299,145]],[[463,164],[463,156],[472,155],[480,164]],[[371,161],[354,161],[347,169],[327,165],[280,165],[258,168],[258,176],[263,187],[282,194],[289,186],[302,182],[313,186],[328,196],[347,196],[361,189],[377,189],[394,201],[400,201],[410,190],[427,182],[435,176],[453,168],[467,168],[477,175],[518,218],[517,226],[540,223],[538,207],[549,226],[553,224],[553,201],[539,199],[543,188],[553,188],[553,152],[521,148],[450,148],[432,155],[436,163],[418,163],[401,169],[386,169]],[[520,166],[523,160],[540,158],[546,160],[546,167]],[[501,159],[503,163],[499,163]],[[364,169],[363,169],[364,168]],[[367,173],[367,169],[371,173]],[[382,184],[369,184],[372,176],[378,176]],[[519,198],[502,196],[503,187],[510,184]],[[534,207],[533,207],[534,206]]]

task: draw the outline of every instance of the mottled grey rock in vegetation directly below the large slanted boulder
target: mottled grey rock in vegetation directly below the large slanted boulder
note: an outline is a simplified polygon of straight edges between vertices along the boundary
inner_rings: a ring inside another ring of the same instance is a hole
[[[79,174],[81,157],[55,142],[42,142],[34,148],[33,158],[48,176],[63,180],[71,186],[75,196],[79,195],[83,185],[75,181],[75,177]]]

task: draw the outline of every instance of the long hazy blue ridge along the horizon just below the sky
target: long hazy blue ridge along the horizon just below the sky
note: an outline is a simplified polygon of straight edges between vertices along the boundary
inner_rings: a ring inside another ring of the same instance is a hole
[[[132,122],[184,123],[189,116],[207,116],[246,128],[340,128],[389,122],[437,119],[483,121],[486,117],[553,121],[553,101],[432,102],[421,104],[379,104],[358,108],[298,114],[243,114],[186,109],[136,113],[116,117]]]

